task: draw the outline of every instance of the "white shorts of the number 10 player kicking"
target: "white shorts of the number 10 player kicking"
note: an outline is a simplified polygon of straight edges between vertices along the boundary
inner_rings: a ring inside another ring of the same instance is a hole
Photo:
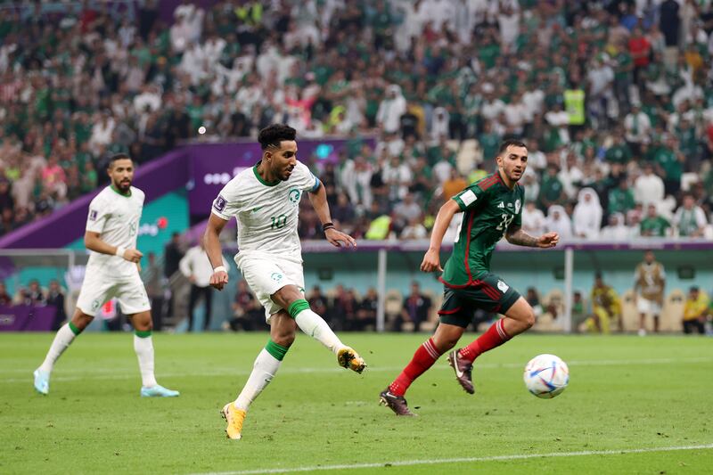
[[[283,308],[277,305],[270,297],[285,285],[295,285],[304,295],[305,274],[302,264],[277,258],[259,258],[235,256],[235,264],[238,265],[242,278],[250,285],[250,290],[255,293],[260,304],[265,307],[265,320],[270,323],[270,316],[276,314]],[[285,308],[287,310],[287,308]]]

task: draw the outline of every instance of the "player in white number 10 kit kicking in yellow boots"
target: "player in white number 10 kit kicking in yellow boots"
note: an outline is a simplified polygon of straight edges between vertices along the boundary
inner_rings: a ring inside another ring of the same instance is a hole
[[[274,124],[262,129],[258,142],[262,160],[235,176],[213,201],[205,233],[206,250],[213,266],[210,285],[222,290],[228,274],[222,265],[218,238],[225,224],[238,220],[238,254],[235,263],[242,277],[265,307],[270,340],[260,351],[240,395],[225,405],[228,438],[242,437],[242,422],[250,403],[277,373],[295,339],[297,328],[337,355],[338,363],[356,373],[365,363],[354,349],[344,345],[321,316],[310,310],[304,296],[302,250],[297,233],[299,199],[309,201],[322,221],[327,241],[336,247],[356,246],[354,239],[330,222],[324,185],[297,160],[295,129]]]

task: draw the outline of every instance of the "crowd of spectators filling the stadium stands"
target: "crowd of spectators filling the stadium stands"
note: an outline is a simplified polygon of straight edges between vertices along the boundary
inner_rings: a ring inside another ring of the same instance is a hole
[[[709,1],[139,4],[0,9],[0,232],[94,190],[112,152],[286,122],[349,137],[313,165],[356,237],[425,237],[513,135],[530,233],[713,233]]]

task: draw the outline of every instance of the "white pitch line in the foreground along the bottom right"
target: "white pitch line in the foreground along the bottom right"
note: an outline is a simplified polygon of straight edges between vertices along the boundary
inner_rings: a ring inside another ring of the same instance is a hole
[[[619,450],[585,450],[581,452],[553,452],[550,454],[520,454],[520,455],[493,455],[489,457],[459,457],[433,460],[405,460],[397,462],[381,463],[354,463],[352,465],[316,465],[312,467],[294,467],[283,469],[258,469],[246,471],[220,471],[203,473],[201,475],[251,475],[254,473],[294,473],[297,471],[333,471],[333,470],[356,470],[373,469],[386,466],[408,467],[413,465],[436,465],[442,463],[470,463],[470,462],[498,462],[508,460],[523,460],[533,458],[554,458],[554,457],[581,457],[587,455],[626,455],[626,454],[647,454],[650,452],[674,452],[678,450],[706,450],[713,448],[713,444],[703,446],[675,446],[675,447],[651,447],[651,448],[625,448]]]

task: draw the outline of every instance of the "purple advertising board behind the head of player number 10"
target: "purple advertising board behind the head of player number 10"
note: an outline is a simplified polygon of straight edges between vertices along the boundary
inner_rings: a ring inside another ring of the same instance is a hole
[[[300,140],[298,160],[304,162],[314,155],[318,162],[336,161],[346,143],[343,139]],[[192,216],[208,216],[210,205],[223,186],[245,168],[254,166],[262,155],[260,145],[253,141],[200,143],[191,145],[188,150],[192,179],[188,185],[188,201]]]

